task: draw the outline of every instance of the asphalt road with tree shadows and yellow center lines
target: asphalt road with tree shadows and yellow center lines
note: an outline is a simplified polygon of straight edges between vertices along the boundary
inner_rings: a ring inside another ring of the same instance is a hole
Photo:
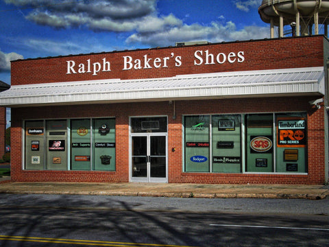
[[[0,246],[322,247],[328,202],[0,194]]]

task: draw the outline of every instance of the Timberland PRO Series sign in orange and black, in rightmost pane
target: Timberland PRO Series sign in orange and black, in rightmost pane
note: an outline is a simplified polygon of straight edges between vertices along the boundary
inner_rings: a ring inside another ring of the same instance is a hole
[[[304,147],[306,145],[306,121],[304,119],[278,119],[278,146]]]

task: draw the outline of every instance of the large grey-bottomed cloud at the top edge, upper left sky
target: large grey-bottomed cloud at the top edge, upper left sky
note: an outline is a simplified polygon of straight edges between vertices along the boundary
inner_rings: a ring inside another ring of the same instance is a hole
[[[94,31],[130,32],[136,22],[156,12],[156,0],[5,0],[16,6],[32,6],[26,18],[55,28],[86,26]]]

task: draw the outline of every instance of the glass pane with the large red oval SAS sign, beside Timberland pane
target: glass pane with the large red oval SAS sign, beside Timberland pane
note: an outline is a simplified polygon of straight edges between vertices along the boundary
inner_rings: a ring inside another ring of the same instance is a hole
[[[273,172],[273,114],[245,116],[246,171]]]

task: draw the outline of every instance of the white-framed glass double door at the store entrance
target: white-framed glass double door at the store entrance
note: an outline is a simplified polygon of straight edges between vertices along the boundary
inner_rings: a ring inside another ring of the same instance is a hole
[[[131,148],[132,182],[167,183],[167,135],[132,136]]]

